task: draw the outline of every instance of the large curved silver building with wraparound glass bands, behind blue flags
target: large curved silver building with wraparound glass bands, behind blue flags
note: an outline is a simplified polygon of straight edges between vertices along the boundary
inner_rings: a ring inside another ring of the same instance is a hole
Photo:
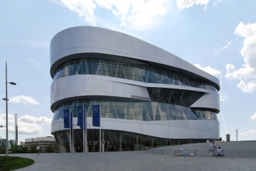
[[[76,126],[78,105],[88,112],[88,151],[99,151],[92,105],[101,105],[102,151],[206,142],[219,138],[216,77],[136,37],[81,26],[51,40],[51,134],[68,152],[63,110],[74,114],[74,147],[82,148]]]

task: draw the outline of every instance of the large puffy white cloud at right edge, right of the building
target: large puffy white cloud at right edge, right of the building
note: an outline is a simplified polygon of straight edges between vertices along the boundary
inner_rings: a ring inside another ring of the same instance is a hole
[[[240,53],[245,63],[239,69],[236,69],[232,64],[226,64],[227,73],[225,77],[227,79],[241,80],[238,88],[243,90],[243,92],[253,92],[256,90],[255,80],[246,83],[244,79],[256,78],[256,23],[245,25],[243,22],[240,22],[234,34],[244,38]]]

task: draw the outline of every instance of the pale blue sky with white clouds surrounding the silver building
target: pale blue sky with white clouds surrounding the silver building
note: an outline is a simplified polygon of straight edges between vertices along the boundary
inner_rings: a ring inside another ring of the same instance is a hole
[[[0,98],[7,62],[9,138],[51,135],[49,44],[59,31],[97,26],[160,47],[220,80],[220,137],[256,140],[256,1],[0,1]],[[156,57],[157,58],[157,57]],[[5,101],[0,124],[5,126]],[[0,128],[5,138],[5,128]]]

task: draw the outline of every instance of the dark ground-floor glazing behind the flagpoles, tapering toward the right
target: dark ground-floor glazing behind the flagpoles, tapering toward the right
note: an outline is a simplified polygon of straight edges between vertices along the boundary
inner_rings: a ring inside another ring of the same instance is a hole
[[[61,130],[53,134],[59,145],[61,153],[70,152],[69,130]],[[71,134],[72,137],[72,134]],[[88,129],[87,151],[99,152],[99,130]],[[71,138],[71,151],[73,151],[73,141]],[[149,147],[161,145],[180,145],[185,143],[202,143],[207,140],[202,139],[168,139],[124,132],[119,130],[101,130],[101,151],[142,151]],[[85,145],[86,147],[86,145]],[[74,152],[83,152],[83,132],[74,130]]]

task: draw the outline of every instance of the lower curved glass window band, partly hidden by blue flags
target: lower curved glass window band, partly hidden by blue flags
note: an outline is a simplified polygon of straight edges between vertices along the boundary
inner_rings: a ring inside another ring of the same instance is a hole
[[[92,105],[101,105],[101,117],[130,119],[137,121],[169,121],[208,119],[218,121],[214,111],[191,109],[181,105],[159,102],[114,102],[107,100],[78,100],[59,105],[53,115],[53,121],[63,119],[63,110],[70,109],[77,117],[76,107],[84,105],[88,117],[92,117]]]

